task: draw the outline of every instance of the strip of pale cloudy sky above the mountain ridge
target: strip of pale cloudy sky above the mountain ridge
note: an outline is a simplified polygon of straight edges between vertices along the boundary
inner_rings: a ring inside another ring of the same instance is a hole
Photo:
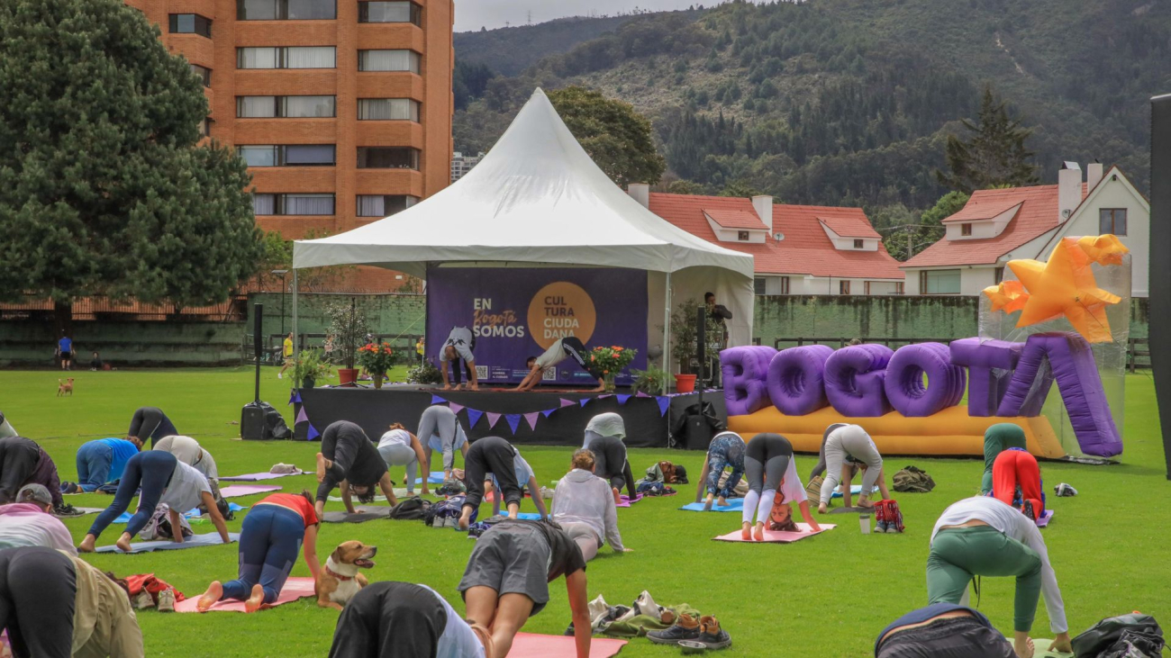
[[[563,16],[615,15],[631,9],[685,9],[691,5],[718,5],[721,0],[456,0],[456,32],[493,29]]]

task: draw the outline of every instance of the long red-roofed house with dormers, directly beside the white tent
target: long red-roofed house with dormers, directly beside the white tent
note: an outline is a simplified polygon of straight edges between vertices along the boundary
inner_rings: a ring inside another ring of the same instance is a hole
[[[644,184],[629,193],[692,235],[752,254],[758,295],[903,294],[904,273],[862,208],[666,194]]]

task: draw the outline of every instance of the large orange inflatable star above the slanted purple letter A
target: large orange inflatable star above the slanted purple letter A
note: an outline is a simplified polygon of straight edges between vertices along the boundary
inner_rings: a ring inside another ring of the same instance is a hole
[[[1122,299],[1098,288],[1090,262],[1090,256],[1071,238],[1057,242],[1048,262],[1008,261],[1008,267],[1029,293],[1016,327],[1064,316],[1087,341],[1109,342],[1110,322],[1105,307]]]

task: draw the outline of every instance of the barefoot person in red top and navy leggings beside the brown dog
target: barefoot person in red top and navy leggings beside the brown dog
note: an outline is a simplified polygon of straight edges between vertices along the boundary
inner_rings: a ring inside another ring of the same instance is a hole
[[[317,562],[317,529],[321,520],[309,492],[272,494],[252,507],[240,529],[240,569],[234,581],[212,581],[196,608],[206,612],[219,601],[244,601],[247,612],[273,604],[288,581],[299,553],[314,582]]]

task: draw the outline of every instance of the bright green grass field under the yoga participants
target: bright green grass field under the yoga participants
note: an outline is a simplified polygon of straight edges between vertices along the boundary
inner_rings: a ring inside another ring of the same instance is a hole
[[[124,436],[133,410],[159,406],[184,433],[215,455],[221,475],[267,471],[278,461],[310,468],[316,444],[232,440],[239,436],[240,407],[252,398],[246,369],[74,372],[76,393],[56,398],[57,372],[0,371],[0,409],[26,437],[44,446],[62,479],[74,479],[78,445],[101,437]],[[1070,630],[1077,633],[1107,616],[1142,610],[1171,623],[1171,506],[1165,505],[1159,419],[1149,376],[1127,382],[1125,453],[1122,464],[1091,467],[1045,464],[1043,477],[1056,510],[1043,530],[1066,599]],[[282,409],[288,379],[266,369],[263,398]],[[526,447],[537,479],[548,484],[564,474],[571,450]],[[683,464],[698,474],[703,453],[631,450],[635,473],[659,459]],[[802,478],[815,457],[800,455]],[[623,540],[634,553],[616,555],[603,548],[590,563],[589,596],[604,595],[611,604],[629,604],[646,589],[660,604],[690,603],[718,616],[733,645],[724,656],[869,656],[875,635],[891,619],[926,603],[924,563],[927,537],[937,515],[949,503],[971,495],[979,485],[982,461],[970,459],[891,458],[889,472],[908,464],[926,469],[938,486],[930,494],[898,494],[906,518],[903,535],[862,535],[852,515],[824,516],[842,525],[828,534],[795,544],[749,546],[713,542],[711,537],[739,526],[735,514],[696,514],[676,508],[694,495],[639,502],[618,512]],[[402,478],[400,473],[396,474]],[[1074,485],[1077,498],[1056,499],[1052,487]],[[276,480],[286,491],[313,488],[311,475]],[[241,505],[255,501],[235,499]],[[109,496],[69,496],[74,505],[101,507]],[[341,503],[331,503],[340,507]],[[491,506],[489,506],[491,508]],[[489,510],[486,509],[485,512]],[[526,501],[523,510],[535,510]],[[94,516],[67,521],[81,540]],[[228,523],[240,528],[240,518]],[[213,532],[210,523],[198,532]],[[98,541],[112,543],[118,528]],[[452,530],[422,522],[375,521],[327,525],[319,553],[341,541],[358,539],[379,548],[370,578],[425,583],[447,597],[457,610],[456,591],[472,541]],[[159,555],[101,555],[89,560],[115,573],[153,573],[187,596],[198,596],[213,578],[235,576],[237,547],[220,546]],[[308,575],[303,563],[293,571]],[[553,601],[526,631],[561,633],[569,623],[564,583],[550,584]],[[981,610],[1004,631],[1012,630],[1011,580],[985,580]],[[176,657],[321,657],[328,652],[337,614],[303,599],[255,615],[139,615],[148,656]],[[1049,637],[1045,606],[1038,611],[1034,635]],[[645,639],[631,642],[623,657],[677,656],[674,647]]]

